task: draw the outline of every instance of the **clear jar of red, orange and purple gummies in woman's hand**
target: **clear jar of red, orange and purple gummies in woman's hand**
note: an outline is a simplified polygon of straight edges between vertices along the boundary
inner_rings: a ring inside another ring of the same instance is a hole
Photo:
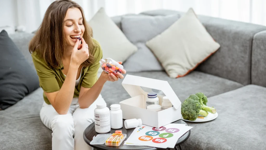
[[[107,73],[113,73],[118,77],[117,72],[122,73],[124,69],[123,65],[120,65],[117,61],[111,58],[105,58],[100,60],[101,68]]]

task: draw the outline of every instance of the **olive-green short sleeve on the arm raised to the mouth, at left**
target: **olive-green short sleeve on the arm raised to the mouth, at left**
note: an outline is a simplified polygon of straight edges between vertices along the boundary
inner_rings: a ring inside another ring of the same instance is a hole
[[[40,87],[45,92],[56,92],[60,90],[56,80],[55,72],[47,66],[43,59],[38,58],[36,53],[32,53],[32,61],[39,76]]]

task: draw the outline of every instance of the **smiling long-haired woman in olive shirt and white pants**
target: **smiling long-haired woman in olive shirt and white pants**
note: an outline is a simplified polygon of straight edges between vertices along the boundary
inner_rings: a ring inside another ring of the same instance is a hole
[[[40,118],[52,130],[52,149],[90,149],[83,132],[94,122],[96,103],[105,102],[100,95],[105,82],[118,80],[105,72],[97,77],[102,49],[92,35],[81,6],[59,0],[48,7],[29,44],[44,90]]]

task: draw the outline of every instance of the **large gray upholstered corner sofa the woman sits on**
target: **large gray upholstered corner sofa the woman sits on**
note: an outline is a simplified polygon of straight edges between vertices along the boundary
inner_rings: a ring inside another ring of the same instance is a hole
[[[156,10],[142,15],[183,14]],[[217,119],[191,123],[191,135],[181,144],[187,150],[266,149],[266,26],[198,15],[221,48],[185,77],[170,78],[165,71],[127,74],[168,81],[181,102],[190,94],[203,92],[208,105],[217,109]],[[121,16],[112,18],[121,27]],[[27,44],[33,34],[10,35],[31,63]],[[130,96],[122,80],[107,82],[101,92],[107,105]],[[110,92],[112,91],[112,96]],[[0,111],[0,149],[52,149],[52,131],[41,122],[42,89]],[[117,96],[114,96],[117,95]],[[174,115],[174,114],[173,114]]]

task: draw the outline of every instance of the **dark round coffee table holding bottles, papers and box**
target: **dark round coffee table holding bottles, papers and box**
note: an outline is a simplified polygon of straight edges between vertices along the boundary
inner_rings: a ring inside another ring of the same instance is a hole
[[[178,123],[178,124],[186,124],[183,120],[177,120],[173,123]],[[186,124],[188,125],[188,124]],[[126,141],[126,139],[123,141],[123,143],[119,146],[119,147],[115,147],[115,146],[106,146],[105,144],[97,144],[97,145],[91,145],[90,142],[92,141],[93,137],[96,136],[97,133],[95,131],[94,128],[94,123],[90,124],[84,131],[83,133],[83,139],[84,141],[89,144],[91,147],[95,148],[95,149],[99,149],[99,150],[115,150],[115,149],[141,149],[141,150],[157,150],[157,149],[162,149],[162,148],[156,148],[156,147],[149,147],[149,146],[133,146],[133,145],[124,145],[124,141]],[[126,129],[124,126],[124,120],[123,120],[123,128],[120,129],[111,129],[110,132],[108,133],[114,133],[116,130],[122,130],[122,133],[127,134],[127,137],[129,137],[131,135],[131,133],[134,131],[135,128],[132,129]],[[176,142],[176,146],[175,149],[177,150],[177,146],[179,146],[179,148],[181,149],[180,144],[183,143],[184,141],[186,141],[190,136],[190,130],[188,132],[186,132],[183,136],[181,136],[177,142]]]

